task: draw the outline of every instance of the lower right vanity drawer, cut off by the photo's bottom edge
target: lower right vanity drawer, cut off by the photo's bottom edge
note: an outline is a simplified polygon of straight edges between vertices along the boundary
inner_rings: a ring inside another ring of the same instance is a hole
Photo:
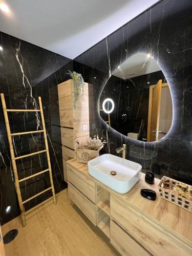
[[[137,243],[137,241],[135,241],[112,220],[110,222],[110,229],[110,242],[121,253],[121,255],[151,255],[144,247]]]

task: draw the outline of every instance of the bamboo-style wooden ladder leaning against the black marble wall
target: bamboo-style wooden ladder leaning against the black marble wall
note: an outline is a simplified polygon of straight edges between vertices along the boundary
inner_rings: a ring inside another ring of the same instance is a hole
[[[45,193],[48,190],[52,190],[52,198],[53,198],[53,202],[54,204],[56,204],[56,198],[55,198],[55,189],[54,189],[54,185],[53,185],[53,177],[52,177],[52,172],[51,172],[51,162],[50,162],[50,156],[49,156],[49,147],[48,147],[48,141],[47,141],[47,134],[46,134],[46,126],[45,126],[45,119],[44,119],[44,112],[42,110],[42,102],[41,102],[41,97],[38,97],[39,100],[39,109],[36,110],[10,110],[6,108],[6,103],[5,103],[5,97],[4,94],[1,93],[1,99],[2,99],[2,106],[3,106],[3,112],[4,112],[4,117],[5,117],[5,124],[6,124],[6,130],[7,130],[7,136],[8,136],[8,141],[9,141],[9,148],[10,148],[10,154],[11,154],[11,162],[12,162],[12,167],[13,167],[13,173],[14,173],[14,179],[15,179],[15,188],[16,188],[16,193],[17,193],[17,198],[18,198],[18,203],[19,203],[19,208],[20,208],[20,213],[22,215],[22,225],[23,227],[26,226],[26,211],[24,208],[24,204],[27,203],[28,201],[30,201],[31,199],[38,197],[39,195]],[[10,125],[9,125],[9,119],[8,119],[8,114],[7,112],[40,112],[41,115],[41,121],[42,121],[42,130],[39,131],[32,131],[32,132],[22,132],[22,133],[11,133],[10,130]],[[19,157],[15,157],[14,154],[14,149],[13,149],[13,142],[12,142],[12,137],[13,136],[17,136],[17,135],[24,135],[24,134],[34,134],[34,133],[44,133],[44,139],[45,139],[45,146],[46,149],[45,150],[41,150],[38,152],[34,152],[28,155],[23,155],[23,156],[19,156]],[[24,179],[18,179],[18,173],[17,173],[17,166],[16,166],[16,160],[21,159],[21,158],[25,158],[25,157],[30,157],[36,154],[41,154],[41,153],[47,153],[47,161],[48,161],[48,169],[42,170],[41,172],[38,172],[36,174],[30,175]],[[42,173],[45,172],[49,172],[49,176],[50,176],[50,181],[51,181],[51,186],[43,191],[41,191],[40,193],[34,195],[33,197],[28,198],[27,200],[23,201],[22,200],[22,195],[20,193],[20,186],[19,183],[28,179],[31,179],[37,175],[40,175]],[[30,209],[31,210],[31,209]]]

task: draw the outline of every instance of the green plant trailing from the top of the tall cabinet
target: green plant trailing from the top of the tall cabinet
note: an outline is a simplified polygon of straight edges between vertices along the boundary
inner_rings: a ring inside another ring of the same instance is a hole
[[[74,108],[76,107],[76,102],[79,97],[81,97],[82,101],[84,101],[84,80],[81,74],[76,73],[75,71],[71,72],[69,70],[68,74],[73,79],[73,96],[74,96]]]

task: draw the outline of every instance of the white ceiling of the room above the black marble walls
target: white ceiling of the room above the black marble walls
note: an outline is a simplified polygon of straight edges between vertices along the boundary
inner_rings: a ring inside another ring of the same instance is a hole
[[[0,30],[71,59],[158,0],[2,0]]]

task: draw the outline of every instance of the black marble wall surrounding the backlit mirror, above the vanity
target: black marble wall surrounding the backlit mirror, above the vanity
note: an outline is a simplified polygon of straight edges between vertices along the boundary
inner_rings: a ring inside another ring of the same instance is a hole
[[[127,14],[129,15],[129,14]],[[90,133],[107,140],[105,152],[127,144],[128,158],[188,184],[192,183],[192,2],[164,0],[78,56],[74,70],[93,84],[90,98]],[[121,135],[100,117],[97,103],[113,71],[135,53],[150,53],[163,71],[173,99],[173,124],[157,142],[142,142]],[[96,124],[96,127],[92,125]]]

